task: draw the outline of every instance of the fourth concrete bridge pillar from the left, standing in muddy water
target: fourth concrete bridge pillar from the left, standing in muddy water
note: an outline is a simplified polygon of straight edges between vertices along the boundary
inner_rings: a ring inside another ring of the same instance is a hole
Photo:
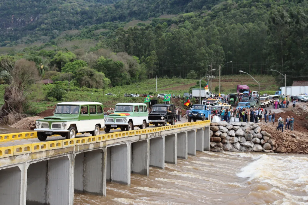
[[[131,175],[129,142],[108,147],[106,158],[107,181],[130,185]]]

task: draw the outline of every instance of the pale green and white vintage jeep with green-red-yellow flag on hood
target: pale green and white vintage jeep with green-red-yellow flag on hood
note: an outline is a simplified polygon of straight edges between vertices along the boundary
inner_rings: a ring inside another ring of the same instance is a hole
[[[133,130],[134,127],[145,129],[149,124],[148,108],[144,103],[118,103],[115,112],[105,116],[105,132],[121,128],[122,131]]]

